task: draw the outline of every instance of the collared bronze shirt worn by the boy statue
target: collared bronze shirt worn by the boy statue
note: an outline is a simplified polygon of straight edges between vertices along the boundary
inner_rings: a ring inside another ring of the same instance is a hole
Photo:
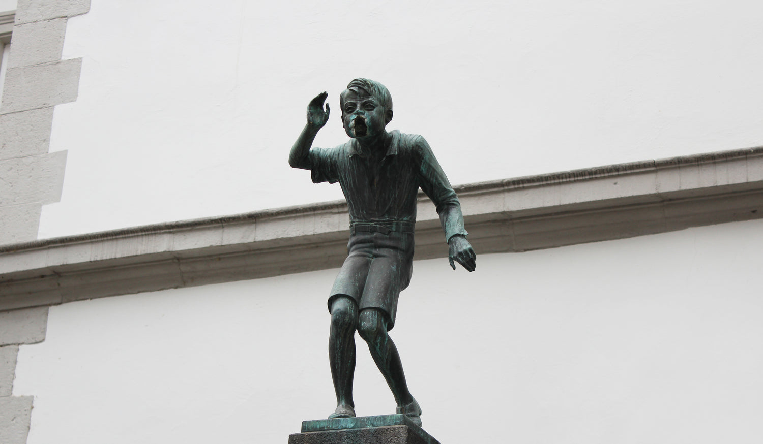
[[[467,235],[461,204],[422,136],[391,131],[381,161],[364,155],[356,139],[330,149],[311,149],[314,183],[340,183],[350,222],[415,222],[419,188],[435,204],[446,241]]]

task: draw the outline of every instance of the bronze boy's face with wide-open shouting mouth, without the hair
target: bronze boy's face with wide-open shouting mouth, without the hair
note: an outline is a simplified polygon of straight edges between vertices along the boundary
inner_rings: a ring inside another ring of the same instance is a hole
[[[388,119],[389,117],[389,119]],[[366,91],[347,91],[342,104],[342,124],[347,136],[353,139],[372,139],[384,133],[391,120],[391,111]]]

